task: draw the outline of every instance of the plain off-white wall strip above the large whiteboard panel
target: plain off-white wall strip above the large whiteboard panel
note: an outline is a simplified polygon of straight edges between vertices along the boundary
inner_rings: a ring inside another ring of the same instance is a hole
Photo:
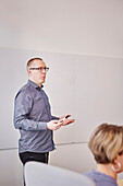
[[[123,57],[122,0],[0,0],[0,45]]]

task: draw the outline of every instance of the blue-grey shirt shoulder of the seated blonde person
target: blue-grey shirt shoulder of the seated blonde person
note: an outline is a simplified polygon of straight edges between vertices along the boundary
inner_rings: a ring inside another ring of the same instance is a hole
[[[96,186],[118,186],[113,177],[97,172],[95,170],[89,173],[86,173],[85,175],[93,179],[96,183]]]

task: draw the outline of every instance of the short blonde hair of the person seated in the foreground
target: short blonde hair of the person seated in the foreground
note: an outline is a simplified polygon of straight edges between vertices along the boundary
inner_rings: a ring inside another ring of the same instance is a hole
[[[123,127],[108,124],[98,126],[88,147],[97,163],[114,163],[115,156],[123,153]]]

